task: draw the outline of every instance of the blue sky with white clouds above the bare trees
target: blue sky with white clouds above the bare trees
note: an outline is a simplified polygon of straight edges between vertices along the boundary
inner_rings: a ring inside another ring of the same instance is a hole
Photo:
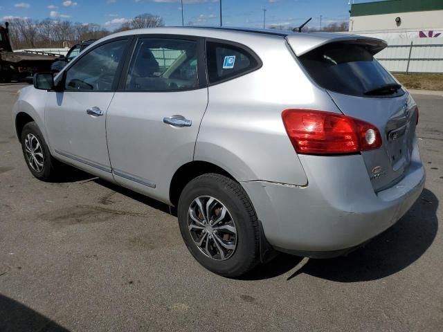
[[[219,25],[220,0],[183,0],[185,25]],[[312,17],[308,26],[349,19],[349,0],[221,0],[224,26],[263,27],[300,26]],[[355,3],[367,1],[354,1]],[[181,26],[181,0],[0,0],[0,21],[14,17],[57,19],[96,23],[113,30],[143,13],[163,17],[166,26]]]

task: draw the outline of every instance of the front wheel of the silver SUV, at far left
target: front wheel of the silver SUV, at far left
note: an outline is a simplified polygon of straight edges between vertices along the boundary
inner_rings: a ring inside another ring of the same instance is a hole
[[[28,122],[21,131],[21,149],[33,176],[42,181],[55,178],[57,160],[51,156],[42,132],[35,122]]]

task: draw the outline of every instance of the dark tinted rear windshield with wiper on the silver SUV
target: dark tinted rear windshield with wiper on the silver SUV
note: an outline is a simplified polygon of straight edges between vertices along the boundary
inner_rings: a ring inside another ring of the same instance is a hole
[[[404,93],[392,75],[361,45],[327,44],[299,59],[314,81],[330,91],[364,97],[395,97]]]

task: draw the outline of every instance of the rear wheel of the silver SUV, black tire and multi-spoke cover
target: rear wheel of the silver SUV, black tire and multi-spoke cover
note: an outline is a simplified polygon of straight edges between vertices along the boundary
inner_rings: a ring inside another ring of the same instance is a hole
[[[188,250],[208,270],[239,277],[257,265],[257,216],[239,183],[219,174],[198,176],[181,192],[178,215]]]

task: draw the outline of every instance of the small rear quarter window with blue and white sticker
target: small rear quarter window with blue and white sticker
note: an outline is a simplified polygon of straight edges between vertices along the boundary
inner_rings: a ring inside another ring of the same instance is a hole
[[[206,43],[209,84],[230,80],[259,68],[259,60],[248,50],[230,44]]]

